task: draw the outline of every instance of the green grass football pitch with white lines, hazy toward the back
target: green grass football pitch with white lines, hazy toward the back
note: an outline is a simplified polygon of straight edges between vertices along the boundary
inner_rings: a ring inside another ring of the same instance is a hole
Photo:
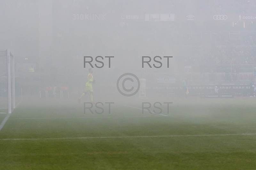
[[[0,169],[256,169],[255,98],[100,102],[115,104],[23,100],[0,131]]]

